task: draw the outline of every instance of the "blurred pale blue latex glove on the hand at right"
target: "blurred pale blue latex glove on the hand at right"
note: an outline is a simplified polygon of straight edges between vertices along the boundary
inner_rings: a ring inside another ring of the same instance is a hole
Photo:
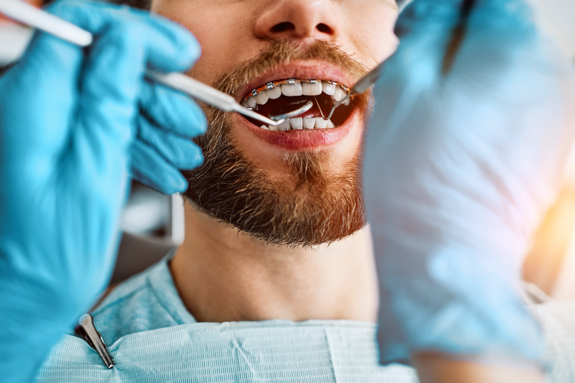
[[[443,75],[462,3],[409,5],[374,90],[363,182],[383,363],[542,352],[519,280],[573,141],[573,73],[523,1],[477,0]]]

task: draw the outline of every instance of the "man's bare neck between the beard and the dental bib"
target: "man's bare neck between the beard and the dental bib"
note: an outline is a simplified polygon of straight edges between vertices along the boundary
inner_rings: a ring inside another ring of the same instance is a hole
[[[186,241],[170,262],[198,322],[349,319],[374,322],[369,232],[314,249],[269,245],[186,203]]]

